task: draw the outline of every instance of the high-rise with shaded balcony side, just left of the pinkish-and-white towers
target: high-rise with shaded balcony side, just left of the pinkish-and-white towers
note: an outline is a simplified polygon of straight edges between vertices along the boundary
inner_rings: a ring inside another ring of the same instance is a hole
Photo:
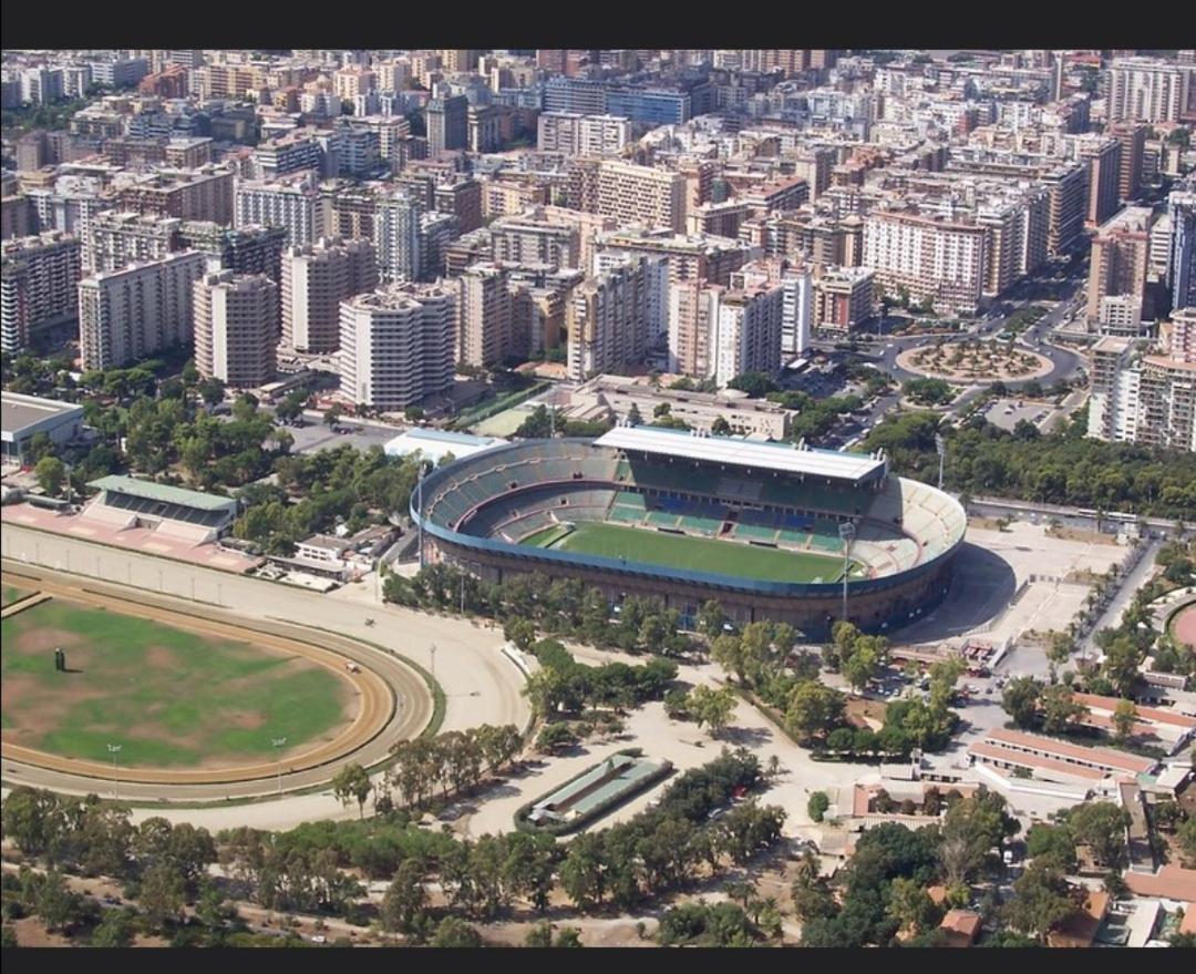
[[[643,361],[659,262],[629,256],[573,291],[566,310],[570,379],[584,382]]]

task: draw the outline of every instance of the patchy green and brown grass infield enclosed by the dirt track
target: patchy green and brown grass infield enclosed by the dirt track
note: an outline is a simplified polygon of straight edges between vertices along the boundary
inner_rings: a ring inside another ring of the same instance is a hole
[[[230,767],[273,755],[271,738],[289,753],[352,719],[348,683],[275,650],[60,598],[0,626],[5,743],[102,761],[118,744],[122,767]]]

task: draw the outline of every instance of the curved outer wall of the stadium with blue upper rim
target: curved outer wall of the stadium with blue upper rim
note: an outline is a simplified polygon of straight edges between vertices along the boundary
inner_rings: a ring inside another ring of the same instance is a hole
[[[518,445],[515,445],[518,446]],[[462,463],[512,450],[502,445],[475,453]],[[457,464],[441,467],[423,479],[423,495],[433,495],[444,480],[454,475]],[[416,497],[411,518],[420,521]],[[599,589],[612,604],[630,595],[655,596],[691,620],[706,601],[718,599],[727,615],[745,623],[769,619],[789,622],[812,639],[825,637],[842,616],[841,583],[763,582],[661,568],[599,555],[560,552],[511,544],[478,537],[435,524],[423,518],[426,556],[444,560],[478,578],[500,583],[519,574],[539,573],[548,578],[568,576]],[[868,632],[884,632],[908,625],[934,609],[947,595],[954,558],[963,540],[932,561],[881,578],[848,583],[848,619]]]

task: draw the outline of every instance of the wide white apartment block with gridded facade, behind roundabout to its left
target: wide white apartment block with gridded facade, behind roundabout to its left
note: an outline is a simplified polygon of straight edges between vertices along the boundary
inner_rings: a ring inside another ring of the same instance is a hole
[[[907,212],[874,211],[864,223],[864,267],[889,293],[907,292],[941,315],[975,315],[984,285],[987,231]]]

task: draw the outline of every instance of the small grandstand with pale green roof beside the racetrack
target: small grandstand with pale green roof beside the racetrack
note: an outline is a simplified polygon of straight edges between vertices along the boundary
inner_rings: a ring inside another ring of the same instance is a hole
[[[237,517],[232,498],[187,491],[128,476],[106,476],[89,485],[99,491],[84,517],[111,528],[151,528],[176,541],[205,544],[226,534]]]

